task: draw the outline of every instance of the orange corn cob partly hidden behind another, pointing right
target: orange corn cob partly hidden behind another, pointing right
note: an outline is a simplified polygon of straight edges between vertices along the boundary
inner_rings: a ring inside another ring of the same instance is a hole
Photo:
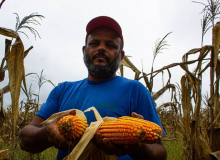
[[[153,123],[153,122],[150,122],[144,119],[129,117],[129,116],[119,117],[117,121],[123,121],[123,122],[129,121],[129,122],[136,122],[138,124],[141,124],[143,126],[143,129],[146,132],[145,138],[143,140],[144,143],[159,142],[161,138],[163,137],[162,129],[156,123]]]

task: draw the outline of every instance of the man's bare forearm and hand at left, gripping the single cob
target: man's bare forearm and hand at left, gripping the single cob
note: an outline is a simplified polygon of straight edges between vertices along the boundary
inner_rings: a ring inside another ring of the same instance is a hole
[[[47,126],[42,126],[41,123],[45,119],[35,116],[20,132],[21,149],[31,153],[42,152],[51,146],[64,151],[72,149],[74,142],[66,140],[57,128],[57,123],[62,117],[55,119]]]

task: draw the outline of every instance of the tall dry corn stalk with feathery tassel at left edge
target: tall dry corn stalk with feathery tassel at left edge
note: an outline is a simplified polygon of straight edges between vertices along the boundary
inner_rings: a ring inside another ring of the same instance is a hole
[[[0,81],[3,81],[5,78],[5,71],[9,72],[9,85],[1,89],[1,98],[3,98],[3,94],[10,91],[11,94],[11,109],[12,109],[12,146],[15,149],[16,147],[16,128],[17,128],[17,119],[19,114],[19,97],[20,97],[20,89],[21,83],[23,81],[24,90],[27,91],[26,80],[25,80],[25,70],[24,70],[24,58],[27,56],[29,51],[33,48],[32,46],[24,51],[24,45],[21,41],[21,38],[17,32],[24,33],[20,31],[22,28],[29,29],[36,38],[36,34],[39,36],[38,32],[30,26],[26,24],[32,23],[38,25],[39,22],[34,19],[34,17],[42,18],[43,16],[37,15],[35,13],[26,16],[20,22],[19,16],[17,15],[17,23],[15,27],[15,31],[0,27],[0,34],[6,37],[15,38],[15,42],[12,44],[12,40],[5,41],[5,57],[2,59],[1,68],[0,68]],[[25,33],[24,33],[25,34]],[[26,35],[26,34],[25,34]],[[27,36],[27,35],[26,35]],[[5,61],[7,64],[5,65]],[[1,103],[1,113],[3,113],[3,103]],[[2,123],[2,119],[1,122]],[[14,159],[14,155],[12,156]]]

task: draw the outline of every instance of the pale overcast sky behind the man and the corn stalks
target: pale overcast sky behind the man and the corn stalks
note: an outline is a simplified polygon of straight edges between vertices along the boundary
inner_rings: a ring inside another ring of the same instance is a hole
[[[198,0],[207,4],[207,0]],[[182,56],[193,48],[201,47],[201,11],[203,5],[191,0],[6,0],[0,9],[0,27],[15,29],[17,13],[22,19],[31,13],[38,12],[45,18],[36,18],[41,25],[34,27],[40,37],[27,29],[23,29],[29,39],[20,34],[25,50],[34,48],[24,59],[25,74],[43,71],[46,79],[54,84],[64,81],[77,81],[87,77],[87,69],[83,62],[82,46],[85,44],[86,25],[97,16],[114,18],[121,26],[124,37],[125,55],[141,71],[150,73],[153,47],[158,38],[172,32],[166,41],[169,44],[163,54],[159,54],[154,62],[154,70],[171,63],[182,61]],[[0,58],[4,58],[5,36],[0,35]],[[204,38],[204,45],[211,45],[212,31]],[[193,60],[197,55],[190,56]],[[209,58],[209,57],[208,57]],[[193,69],[192,65],[192,69]],[[170,69],[171,83],[180,83],[184,71],[179,67]],[[124,69],[124,76],[134,78],[129,68]],[[203,92],[209,91],[209,73],[203,74]],[[168,78],[164,72],[164,79]],[[34,76],[28,76],[27,87],[32,85],[34,93],[38,93],[38,85]],[[8,84],[8,72],[0,88]],[[141,83],[144,81],[141,79]],[[162,87],[162,76],[154,81],[153,92]],[[45,83],[40,92],[40,103],[44,103],[53,86]],[[25,99],[21,91],[20,100]],[[4,95],[4,105],[10,105],[10,94]],[[170,101],[170,93],[166,92],[157,101],[158,105]]]

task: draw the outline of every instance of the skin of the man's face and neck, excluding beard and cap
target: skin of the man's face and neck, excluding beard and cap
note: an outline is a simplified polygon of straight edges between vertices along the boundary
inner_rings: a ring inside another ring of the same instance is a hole
[[[94,29],[87,37],[86,46],[83,46],[83,53],[85,52],[92,59],[92,56],[100,51],[104,52],[112,62],[118,54],[121,54],[121,60],[124,57],[124,51],[121,51],[122,40],[115,31],[109,28]],[[96,65],[107,65],[109,62],[102,56],[95,58],[92,61]],[[114,73],[111,77],[116,76]],[[91,81],[101,81],[105,79],[97,79],[88,73],[88,79]],[[107,79],[107,78],[106,78]]]

